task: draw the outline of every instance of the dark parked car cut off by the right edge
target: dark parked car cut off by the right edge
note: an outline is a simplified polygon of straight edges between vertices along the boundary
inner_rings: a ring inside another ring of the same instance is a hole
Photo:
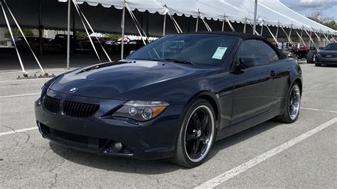
[[[317,52],[314,61],[316,66],[337,65],[337,43],[330,43]]]

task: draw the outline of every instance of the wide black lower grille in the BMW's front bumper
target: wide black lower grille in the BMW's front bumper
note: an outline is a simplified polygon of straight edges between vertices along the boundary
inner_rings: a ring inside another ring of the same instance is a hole
[[[42,133],[49,139],[60,142],[61,144],[66,144],[68,146],[75,146],[78,148],[87,148],[100,151],[108,142],[108,139],[100,139],[90,136],[70,134],[64,131],[58,131],[41,123],[40,127]]]

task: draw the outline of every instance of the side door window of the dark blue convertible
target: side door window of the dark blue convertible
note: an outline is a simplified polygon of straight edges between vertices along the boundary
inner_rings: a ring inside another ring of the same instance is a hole
[[[258,40],[244,41],[239,48],[239,58],[252,58],[255,66],[267,65],[270,63],[264,42]]]

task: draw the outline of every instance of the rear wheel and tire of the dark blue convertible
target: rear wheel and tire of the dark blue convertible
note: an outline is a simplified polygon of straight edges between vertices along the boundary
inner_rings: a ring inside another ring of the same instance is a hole
[[[277,121],[281,121],[285,124],[291,124],[299,119],[299,109],[301,107],[301,90],[299,89],[299,84],[297,82],[291,86],[288,92],[286,104],[284,104],[284,106],[284,113],[276,117]]]

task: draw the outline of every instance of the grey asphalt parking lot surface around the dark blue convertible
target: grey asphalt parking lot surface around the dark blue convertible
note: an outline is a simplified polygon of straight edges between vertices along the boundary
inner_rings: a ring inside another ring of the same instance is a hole
[[[306,63],[301,68],[298,121],[271,120],[218,141],[208,161],[191,169],[97,156],[43,139],[33,102],[48,79],[16,80],[20,70],[1,70],[0,188],[336,188],[337,68]],[[66,70],[50,71],[58,75]]]

